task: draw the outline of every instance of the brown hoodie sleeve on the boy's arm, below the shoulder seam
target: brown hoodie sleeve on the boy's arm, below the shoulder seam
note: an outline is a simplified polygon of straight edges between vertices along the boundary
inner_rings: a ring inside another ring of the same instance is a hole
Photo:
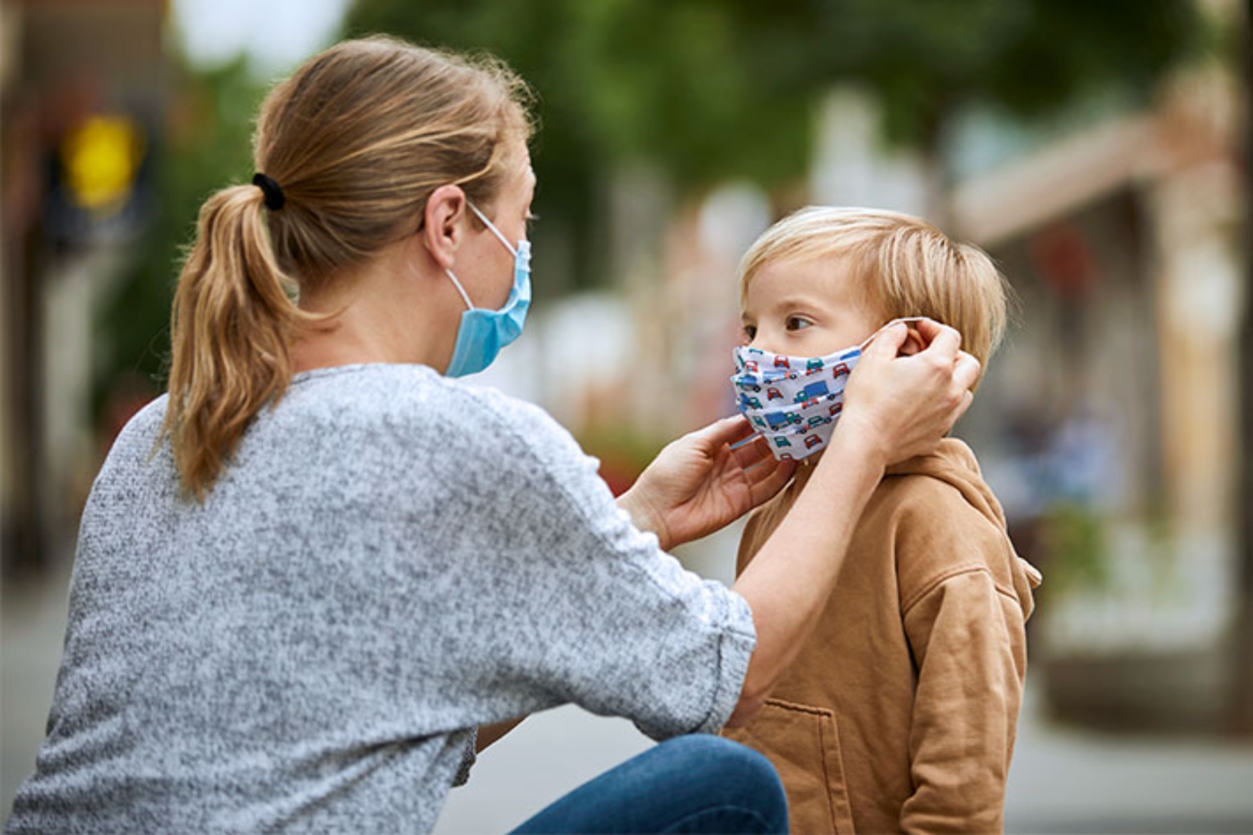
[[[1025,672],[1017,600],[981,566],[936,580],[905,611],[918,669],[906,832],[999,832]]]

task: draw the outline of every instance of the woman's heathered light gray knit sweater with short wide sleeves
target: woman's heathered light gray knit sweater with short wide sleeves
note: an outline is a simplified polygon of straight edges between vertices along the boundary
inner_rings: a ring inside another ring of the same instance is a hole
[[[714,731],[747,603],[637,531],[540,409],[421,366],[297,376],[203,506],[164,398],[83,515],[10,832],[427,831],[474,726],[575,702]]]

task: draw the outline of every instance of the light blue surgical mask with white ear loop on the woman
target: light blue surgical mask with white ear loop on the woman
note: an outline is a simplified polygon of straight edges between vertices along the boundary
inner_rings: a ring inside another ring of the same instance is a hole
[[[466,303],[466,312],[461,314],[461,324],[457,327],[457,342],[452,347],[452,361],[445,372],[449,377],[464,377],[476,374],[496,358],[500,349],[516,339],[523,333],[523,324],[526,322],[526,309],[531,305],[531,244],[528,240],[519,240],[514,247],[509,239],[500,233],[500,229],[489,220],[474,204],[470,209],[479,215],[479,219],[487,224],[491,233],[514,255],[514,287],[505,299],[505,305],[499,310],[476,308],[470,302],[461,282],[452,274],[451,269],[444,270],[452,279],[452,284],[461,293],[461,299]]]

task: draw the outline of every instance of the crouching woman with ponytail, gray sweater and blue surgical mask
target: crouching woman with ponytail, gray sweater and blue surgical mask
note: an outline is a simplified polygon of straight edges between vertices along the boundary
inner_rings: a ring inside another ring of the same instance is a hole
[[[665,548],[791,476],[747,424],[675,442],[615,507],[548,416],[451,379],[529,304],[524,104],[496,63],[385,39],[271,93],[254,184],[200,212],[169,394],[84,512],[10,831],[426,831],[476,747],[563,702],[669,741],[524,830],[783,831],[768,765],[683,735],[753,714],[834,582],[813,555],[975,363],[938,325],[896,359],[888,332],[734,591],[683,572]]]

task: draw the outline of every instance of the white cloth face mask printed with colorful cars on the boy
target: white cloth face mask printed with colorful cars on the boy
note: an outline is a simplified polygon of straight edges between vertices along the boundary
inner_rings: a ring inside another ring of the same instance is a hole
[[[883,328],[920,318],[893,319]],[[848,376],[883,328],[860,346],[823,357],[789,357],[748,346],[734,349],[736,403],[776,458],[799,461],[826,449],[845,408]]]

